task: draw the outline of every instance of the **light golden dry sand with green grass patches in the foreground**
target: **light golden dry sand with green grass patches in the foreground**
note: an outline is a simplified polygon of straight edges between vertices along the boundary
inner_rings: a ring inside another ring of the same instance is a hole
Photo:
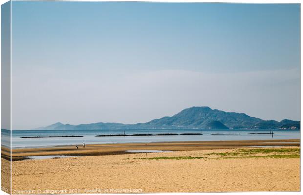
[[[287,141],[287,143],[290,142],[292,141]],[[294,142],[298,142],[298,140]],[[179,144],[166,143],[166,146],[162,143],[162,147],[156,143],[154,143],[156,146],[147,147],[139,144],[137,149],[153,147],[153,149],[163,150],[164,148],[176,149],[176,147],[183,147],[183,150],[167,153],[128,153],[13,161],[12,193],[300,190],[300,154],[298,146],[266,148],[235,146],[240,143],[248,144],[246,141],[240,141],[239,143],[224,142],[221,148],[219,148],[218,143],[203,143],[205,144],[204,147],[193,146],[198,143],[182,142],[179,142]],[[261,141],[259,144],[265,143]],[[253,142],[253,144],[256,143]],[[273,144],[272,142],[271,145]],[[123,147],[134,148],[134,146],[128,144],[124,144]],[[119,144],[111,144],[110,148],[121,149],[123,147]],[[217,148],[210,149],[209,147]],[[104,148],[111,151],[108,147]],[[188,148],[188,150],[184,150],[184,148]],[[32,149],[27,150],[29,150],[28,154],[30,155],[35,153]],[[45,151],[41,151],[42,149],[35,150],[36,153],[45,154]],[[69,150],[67,149],[67,151]],[[55,151],[46,152],[53,153]],[[6,160],[2,159],[2,161]]]

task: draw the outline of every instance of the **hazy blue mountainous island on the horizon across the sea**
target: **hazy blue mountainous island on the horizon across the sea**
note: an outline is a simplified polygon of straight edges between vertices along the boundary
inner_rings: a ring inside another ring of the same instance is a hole
[[[191,107],[172,117],[162,117],[146,123],[91,123],[55,124],[37,130],[88,130],[88,129],[300,129],[300,121],[284,119],[262,120],[244,113],[225,112],[210,107]]]

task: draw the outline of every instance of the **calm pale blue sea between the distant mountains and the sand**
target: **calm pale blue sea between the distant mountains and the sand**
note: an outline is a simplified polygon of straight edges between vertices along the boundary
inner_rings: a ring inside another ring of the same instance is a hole
[[[248,133],[265,133],[269,130],[202,130],[203,135],[178,136],[125,136],[95,137],[100,134],[123,134],[124,130],[14,130],[12,131],[12,148],[49,147],[59,145],[81,145],[101,143],[142,143],[164,141],[226,141],[226,140],[265,140],[265,139],[299,139],[299,130],[273,130],[274,135],[248,135]],[[125,130],[125,134],[161,134],[161,133],[200,133],[200,130]],[[211,135],[214,133],[239,133],[240,135]],[[1,130],[1,144],[9,146],[7,130]],[[52,138],[21,138],[32,136],[83,136]]]

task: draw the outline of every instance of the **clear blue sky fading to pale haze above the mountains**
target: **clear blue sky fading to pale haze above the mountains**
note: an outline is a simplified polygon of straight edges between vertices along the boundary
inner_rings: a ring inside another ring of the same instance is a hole
[[[298,4],[12,2],[12,129],[192,106],[300,119]]]

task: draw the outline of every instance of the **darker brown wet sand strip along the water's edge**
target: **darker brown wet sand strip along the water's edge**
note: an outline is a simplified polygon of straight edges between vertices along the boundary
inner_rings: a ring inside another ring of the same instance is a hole
[[[101,156],[129,154],[127,150],[170,150],[194,151],[211,149],[233,149],[253,146],[300,146],[300,139],[277,140],[241,140],[241,141],[180,141],[180,142],[150,142],[150,143],[111,143],[87,144],[85,148],[79,145],[41,147],[41,148],[15,148],[12,149],[12,161],[25,160],[29,156],[67,155],[67,156]],[[1,157],[9,159],[9,149],[1,147]]]

